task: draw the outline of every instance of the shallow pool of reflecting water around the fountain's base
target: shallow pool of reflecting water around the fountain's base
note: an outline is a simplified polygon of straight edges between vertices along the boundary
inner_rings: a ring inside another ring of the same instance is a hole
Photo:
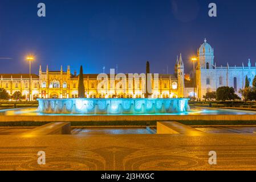
[[[255,111],[231,110],[231,109],[205,109],[205,108],[192,108],[182,113],[159,113],[159,114],[118,114],[118,115],[254,115]],[[106,114],[44,114],[40,113],[37,108],[24,108],[24,109],[5,109],[0,110],[0,115],[106,115]],[[117,114],[107,114],[117,115]]]

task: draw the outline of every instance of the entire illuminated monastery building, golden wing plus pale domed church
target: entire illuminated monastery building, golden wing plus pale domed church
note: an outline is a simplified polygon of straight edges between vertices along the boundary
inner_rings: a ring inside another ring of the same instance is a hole
[[[256,65],[251,66],[250,60],[247,66],[225,67],[217,66],[214,62],[214,49],[207,43],[206,39],[197,51],[196,64],[196,86],[193,84],[193,78],[190,79],[184,72],[184,63],[182,56],[177,57],[174,74],[159,74],[158,79],[152,79],[152,97],[153,98],[176,98],[193,97],[203,99],[207,91],[216,91],[220,86],[233,87],[238,96],[239,89],[245,86],[245,77],[247,76],[252,85],[253,78],[256,75]],[[141,79],[127,79],[125,85],[118,85],[120,80],[111,80],[109,75],[107,86],[97,88],[100,79],[97,74],[84,74],[85,94],[88,98],[143,98]],[[116,76],[116,75],[115,75]],[[124,75],[128,78],[128,74]],[[129,82],[129,80],[131,82]],[[29,94],[29,74],[1,74],[0,88],[5,88],[7,92],[13,94],[20,91],[28,98]],[[131,84],[132,83],[132,84]],[[124,89],[126,88],[126,89]],[[195,93],[194,93],[195,90]],[[31,94],[35,98],[75,98],[78,97],[78,76],[70,72],[70,66],[66,71],[60,68],[60,71],[49,71],[48,66],[43,72],[39,68],[39,75],[31,75]]]

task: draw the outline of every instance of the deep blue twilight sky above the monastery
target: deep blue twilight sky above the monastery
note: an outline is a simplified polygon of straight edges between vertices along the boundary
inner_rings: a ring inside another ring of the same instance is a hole
[[[46,17],[37,5],[46,4]],[[217,4],[217,18],[208,5]],[[43,70],[173,72],[182,53],[189,57],[204,38],[217,65],[256,61],[256,1],[244,0],[0,0],[0,73],[27,73],[27,53],[36,56],[32,72]]]

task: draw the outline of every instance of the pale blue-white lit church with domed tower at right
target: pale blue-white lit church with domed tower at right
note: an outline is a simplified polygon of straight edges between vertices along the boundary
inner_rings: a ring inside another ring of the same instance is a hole
[[[247,66],[243,63],[239,67],[230,67],[229,63],[225,67],[217,66],[214,62],[214,49],[206,39],[198,49],[197,55],[196,90],[201,100],[207,91],[216,91],[221,86],[233,87],[235,93],[241,97],[238,91],[244,88],[246,76],[252,85],[256,67],[251,66],[250,59]]]

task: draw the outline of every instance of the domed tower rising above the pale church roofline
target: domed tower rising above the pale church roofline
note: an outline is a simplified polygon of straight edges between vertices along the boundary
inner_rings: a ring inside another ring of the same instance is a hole
[[[198,49],[197,69],[213,69],[214,51],[206,39]]]

